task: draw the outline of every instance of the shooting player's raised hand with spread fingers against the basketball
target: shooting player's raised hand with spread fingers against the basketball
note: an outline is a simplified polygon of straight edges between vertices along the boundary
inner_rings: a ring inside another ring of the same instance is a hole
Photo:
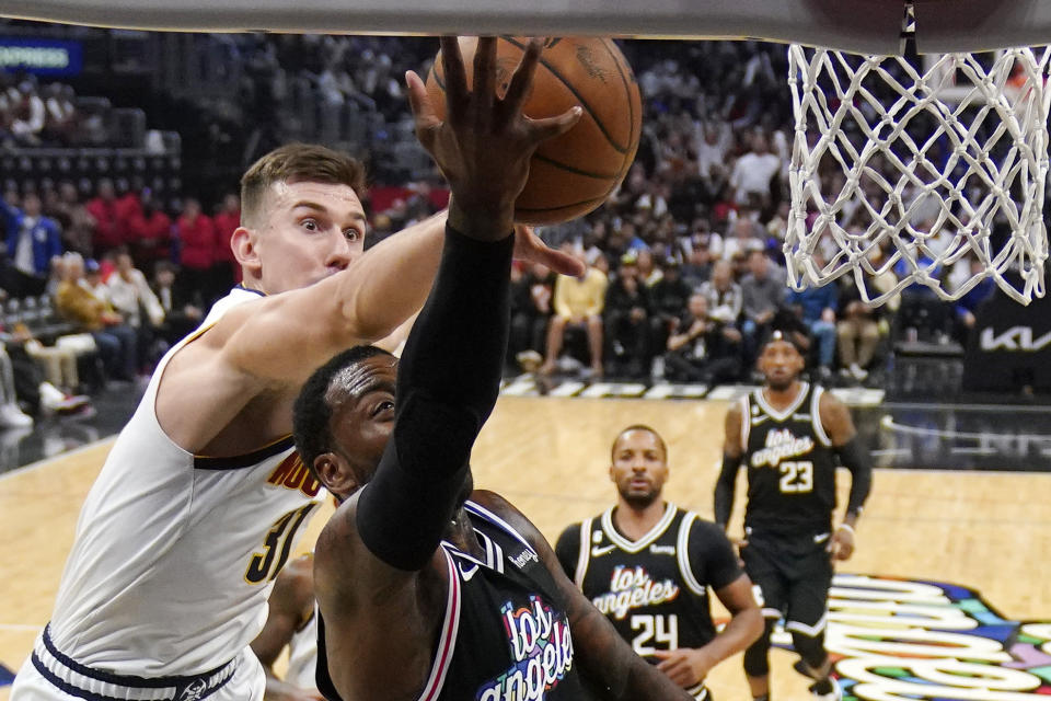
[[[533,151],[580,118],[579,106],[546,119],[522,114],[541,48],[539,41],[530,42],[500,99],[496,95],[496,38],[478,39],[473,90],[467,90],[460,45],[455,37],[442,37],[446,120],[438,118],[419,76],[406,73],[416,136],[452,191],[449,223],[469,237],[498,240],[507,235]]]

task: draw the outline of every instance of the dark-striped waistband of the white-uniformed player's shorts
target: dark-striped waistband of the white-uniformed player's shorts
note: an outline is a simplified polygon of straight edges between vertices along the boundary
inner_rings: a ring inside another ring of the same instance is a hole
[[[33,666],[51,686],[86,701],[203,701],[238,670],[239,657],[189,677],[132,677],[82,665],[51,641],[49,625],[33,646]]]

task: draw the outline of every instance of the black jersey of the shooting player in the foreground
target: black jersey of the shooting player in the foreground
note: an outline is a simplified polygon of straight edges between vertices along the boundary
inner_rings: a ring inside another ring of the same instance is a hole
[[[586,698],[554,577],[499,516],[467,502],[480,560],[442,541],[449,594],[430,676],[419,701],[566,701]],[[317,688],[339,701],[319,620]]]

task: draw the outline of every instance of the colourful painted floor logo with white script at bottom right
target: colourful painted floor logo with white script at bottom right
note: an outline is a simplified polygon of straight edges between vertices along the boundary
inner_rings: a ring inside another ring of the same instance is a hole
[[[966,587],[836,575],[825,646],[844,701],[1051,699],[1051,621],[1005,619]]]

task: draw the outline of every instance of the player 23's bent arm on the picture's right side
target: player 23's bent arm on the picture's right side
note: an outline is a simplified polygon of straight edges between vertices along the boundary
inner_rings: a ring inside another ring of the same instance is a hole
[[[871,491],[873,463],[868,451],[857,439],[857,430],[854,428],[854,421],[846,404],[824,393],[821,395],[819,411],[821,425],[832,441],[832,449],[839,456],[840,463],[851,471],[851,493],[847,497],[846,514],[830,543],[831,551],[838,560],[847,560],[854,552],[854,528]]]

